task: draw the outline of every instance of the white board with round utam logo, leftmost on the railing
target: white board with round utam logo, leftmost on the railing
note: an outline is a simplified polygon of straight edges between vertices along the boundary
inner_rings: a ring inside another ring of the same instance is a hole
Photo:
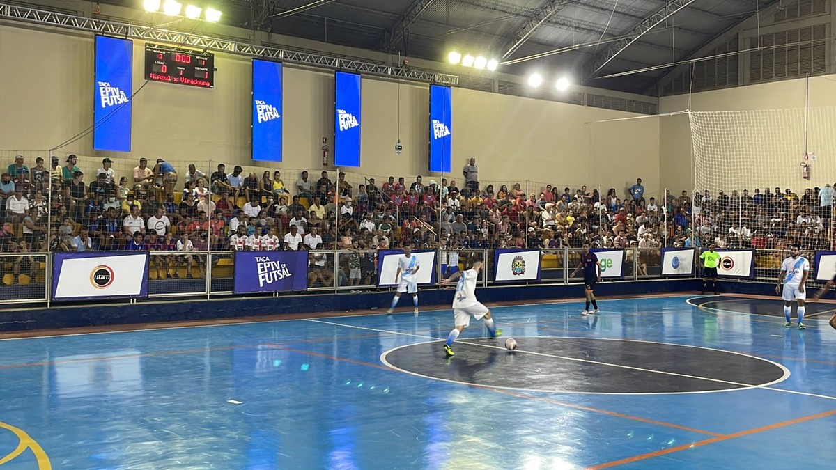
[[[146,297],[148,253],[55,253],[53,300]]]

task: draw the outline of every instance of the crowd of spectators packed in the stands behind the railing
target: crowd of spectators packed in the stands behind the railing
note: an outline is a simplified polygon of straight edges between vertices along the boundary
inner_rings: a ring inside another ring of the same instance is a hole
[[[670,192],[646,197],[641,179],[619,197],[615,188],[546,185],[526,193],[520,183],[483,184],[475,159],[461,179],[426,181],[389,176],[350,183],[322,171],[302,171],[285,183],[280,171],[245,174],[224,165],[206,175],[190,165],[178,175],[162,159],[141,158],[128,176],[113,161],[84,171],[74,155],[62,164],[38,157],[29,168],[17,156],[0,181],[5,208],[4,251],[343,250],[349,285],[368,284],[381,248],[602,248],[657,250],[663,246],[828,248],[833,189],[737,190],[716,197]],[[295,181],[294,181],[295,180]],[[182,181],[182,190],[177,190]],[[457,184],[461,181],[461,187]],[[510,187],[509,187],[510,186]],[[530,190],[529,190],[530,191]],[[48,224],[48,221],[50,223]],[[333,262],[314,253],[316,282],[329,284]],[[191,263],[191,258],[189,258]],[[652,262],[652,259],[650,259]],[[25,268],[25,267],[24,267]],[[190,270],[191,273],[191,270]]]

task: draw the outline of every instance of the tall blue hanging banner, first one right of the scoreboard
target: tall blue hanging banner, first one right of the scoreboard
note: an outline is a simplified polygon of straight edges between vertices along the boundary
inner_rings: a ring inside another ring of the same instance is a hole
[[[252,160],[282,161],[282,77],[278,62],[252,60]]]

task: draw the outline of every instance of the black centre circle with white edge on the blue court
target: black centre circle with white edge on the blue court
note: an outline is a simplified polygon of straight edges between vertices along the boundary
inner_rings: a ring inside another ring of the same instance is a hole
[[[395,370],[462,384],[554,393],[661,394],[732,391],[771,386],[789,370],[732,351],[639,340],[519,337],[405,345],[380,355]],[[497,347],[499,346],[499,347]]]

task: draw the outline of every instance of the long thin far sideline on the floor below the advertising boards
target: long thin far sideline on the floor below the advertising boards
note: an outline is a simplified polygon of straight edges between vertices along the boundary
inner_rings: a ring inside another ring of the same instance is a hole
[[[688,294],[670,294],[670,295],[654,294],[654,295],[643,295],[641,297],[630,297],[629,299],[598,299],[598,301],[599,302],[624,302],[624,301],[627,301],[627,300],[640,300],[640,299],[675,299],[677,297],[688,297],[688,296],[689,296]],[[183,301],[183,302],[188,302],[188,301]],[[516,309],[517,307],[530,307],[532,305],[580,304],[581,302],[583,302],[582,298],[579,298],[577,300],[560,299],[560,300],[554,300],[553,302],[544,302],[544,303],[498,305],[496,307],[492,307],[492,309]],[[149,304],[149,305],[153,305],[153,304]],[[428,312],[444,312],[444,311],[449,311],[449,310],[451,310],[451,308],[445,307],[445,308],[421,310],[421,312],[425,312],[425,313],[428,313]],[[327,312],[325,312],[325,313],[327,313]],[[400,314],[408,314],[408,313],[409,313],[408,311],[404,311],[404,312],[395,313],[395,314],[400,315]],[[0,312],[0,314],[3,314],[3,313]],[[336,316],[333,316],[333,317],[326,317],[326,318],[329,318],[329,319],[345,319],[345,318],[355,318],[355,317],[374,317],[374,316],[381,316],[381,315],[385,315],[385,314],[387,314],[386,310],[381,308],[379,314],[348,314],[348,315],[336,315]],[[274,314],[274,315],[279,315],[279,314]],[[265,316],[268,316],[268,315],[265,315]],[[233,318],[222,318],[222,319],[217,319],[217,320],[223,322],[223,321],[230,320],[230,319],[233,319]],[[61,337],[64,337],[64,336],[113,335],[113,334],[117,334],[117,333],[141,333],[143,331],[159,331],[159,330],[188,330],[188,329],[191,329],[191,328],[216,328],[218,326],[237,326],[237,325],[241,325],[241,324],[256,324],[256,323],[268,324],[268,323],[278,323],[278,322],[286,322],[286,321],[302,321],[302,320],[313,320],[313,319],[269,319],[269,320],[254,319],[254,320],[250,320],[250,321],[241,321],[241,322],[234,322],[234,323],[187,324],[187,325],[184,325],[184,326],[165,326],[165,325],[161,325],[161,326],[155,326],[155,327],[152,327],[152,328],[140,328],[140,329],[135,329],[135,330],[91,331],[89,333],[66,333],[66,334],[59,334],[59,335],[28,336],[28,337],[23,337],[23,338],[0,338],[0,341],[41,340],[41,339],[44,339],[44,338],[61,338]],[[196,320],[196,321],[206,321],[206,320]],[[136,323],[136,324],[133,324],[133,325],[142,325],[142,324],[143,323]],[[107,325],[107,326],[118,326],[118,325],[110,324],[110,325]],[[53,330],[60,330],[60,329],[53,329]],[[33,330],[32,332],[33,333],[37,332],[37,330]],[[20,331],[5,331],[5,332],[0,331],[0,335],[2,335],[3,333],[20,333]]]

